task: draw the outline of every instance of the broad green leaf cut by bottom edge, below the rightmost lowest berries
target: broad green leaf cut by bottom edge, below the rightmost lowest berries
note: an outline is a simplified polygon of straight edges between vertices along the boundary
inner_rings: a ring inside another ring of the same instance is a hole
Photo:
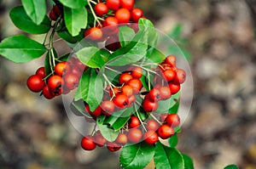
[[[183,155],[160,142],[155,147],[154,164],[156,169],[184,169]]]

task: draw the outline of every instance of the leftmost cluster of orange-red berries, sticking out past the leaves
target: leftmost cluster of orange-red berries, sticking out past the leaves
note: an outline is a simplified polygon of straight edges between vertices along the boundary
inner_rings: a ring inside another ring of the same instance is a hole
[[[46,75],[44,67],[38,68],[36,74],[27,79],[26,85],[32,92],[42,92],[46,99],[53,99],[77,87],[86,68],[79,59],[72,57],[69,61],[57,63],[49,75]]]

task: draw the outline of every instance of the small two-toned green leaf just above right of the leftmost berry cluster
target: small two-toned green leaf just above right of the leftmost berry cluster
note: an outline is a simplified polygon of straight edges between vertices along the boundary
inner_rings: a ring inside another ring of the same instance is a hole
[[[102,59],[102,54],[104,55],[107,53],[104,49],[101,50],[96,47],[86,47],[79,50],[76,54],[84,65],[91,68],[102,68],[102,66],[105,65],[105,62]]]

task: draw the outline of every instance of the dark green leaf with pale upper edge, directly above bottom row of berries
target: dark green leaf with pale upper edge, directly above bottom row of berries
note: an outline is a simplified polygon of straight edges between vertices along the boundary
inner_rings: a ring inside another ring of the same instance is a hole
[[[125,110],[119,110],[113,112],[113,115],[110,115],[104,123],[108,123],[115,131],[118,131],[120,128],[124,127],[127,121],[131,117],[131,112],[133,107],[127,108]]]

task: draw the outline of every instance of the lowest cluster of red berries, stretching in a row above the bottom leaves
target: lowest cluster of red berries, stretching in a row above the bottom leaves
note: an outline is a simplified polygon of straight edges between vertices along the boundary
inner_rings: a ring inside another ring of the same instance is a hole
[[[84,136],[81,146],[85,150],[96,149],[96,146],[107,146],[110,151],[117,151],[127,143],[137,144],[144,141],[146,144],[155,144],[159,138],[171,138],[175,133],[174,128],[180,124],[177,114],[163,114],[159,120],[149,119],[141,124],[139,118],[131,115],[125,130],[119,132],[118,137],[113,142],[108,142],[100,131],[96,131],[92,136]],[[141,129],[143,125],[144,129]],[[144,132],[143,132],[144,131]]]

